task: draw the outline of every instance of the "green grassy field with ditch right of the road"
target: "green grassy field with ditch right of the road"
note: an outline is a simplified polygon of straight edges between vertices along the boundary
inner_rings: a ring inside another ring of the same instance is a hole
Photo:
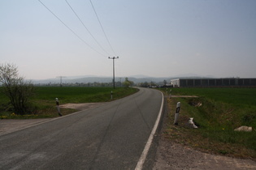
[[[198,97],[167,100],[167,138],[215,154],[256,159],[256,88],[172,88],[171,95]],[[173,125],[178,101],[180,122]],[[189,117],[198,129],[188,127]],[[242,125],[253,131],[234,131]]]

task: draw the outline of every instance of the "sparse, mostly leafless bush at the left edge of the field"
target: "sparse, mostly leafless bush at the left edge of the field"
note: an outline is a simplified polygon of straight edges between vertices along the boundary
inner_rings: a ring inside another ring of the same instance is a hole
[[[24,115],[29,111],[28,99],[33,95],[33,84],[25,82],[13,64],[0,65],[2,93],[6,95],[16,114]]]

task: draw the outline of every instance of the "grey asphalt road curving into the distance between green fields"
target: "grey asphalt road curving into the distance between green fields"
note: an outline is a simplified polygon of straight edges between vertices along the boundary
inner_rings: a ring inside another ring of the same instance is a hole
[[[162,95],[153,89],[0,136],[0,169],[134,169]]]

